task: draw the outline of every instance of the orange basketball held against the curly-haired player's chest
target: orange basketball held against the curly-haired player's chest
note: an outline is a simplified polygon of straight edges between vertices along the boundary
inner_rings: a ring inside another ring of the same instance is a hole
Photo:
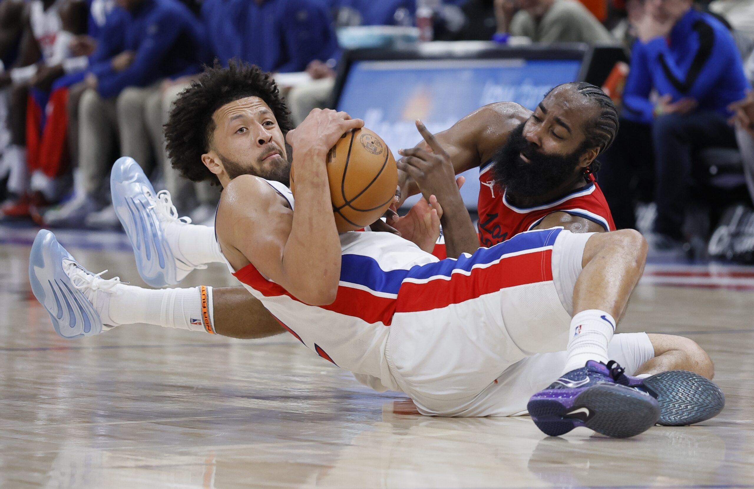
[[[369,226],[382,217],[398,185],[393,153],[381,137],[367,128],[348,131],[330,149],[327,177],[338,232]],[[295,196],[293,166],[290,189]]]

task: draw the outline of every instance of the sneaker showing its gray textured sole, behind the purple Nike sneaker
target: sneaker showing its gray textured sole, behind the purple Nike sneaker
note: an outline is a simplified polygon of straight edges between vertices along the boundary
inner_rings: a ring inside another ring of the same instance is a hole
[[[686,426],[716,417],[725,395],[712,380],[689,371],[667,371],[639,379],[619,376],[616,382],[647,392],[660,403],[663,426]]]

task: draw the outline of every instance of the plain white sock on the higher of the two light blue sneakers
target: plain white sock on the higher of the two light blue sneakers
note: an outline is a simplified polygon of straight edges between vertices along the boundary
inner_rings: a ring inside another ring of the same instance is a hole
[[[170,223],[165,226],[165,235],[176,258],[190,266],[225,263],[213,226]]]

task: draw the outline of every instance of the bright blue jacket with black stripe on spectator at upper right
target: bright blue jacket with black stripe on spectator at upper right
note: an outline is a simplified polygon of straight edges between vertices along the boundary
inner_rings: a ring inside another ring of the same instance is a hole
[[[669,39],[637,40],[633,45],[623,97],[625,118],[645,124],[654,120],[652,88],[673,102],[691,98],[699,111],[728,115],[728,104],[745,97],[749,82],[728,29],[710,14],[691,9],[673,26]]]

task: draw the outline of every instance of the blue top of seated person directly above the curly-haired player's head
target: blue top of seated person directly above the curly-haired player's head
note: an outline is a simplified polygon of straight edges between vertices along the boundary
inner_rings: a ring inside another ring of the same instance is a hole
[[[247,0],[244,60],[270,72],[303,71],[336,55],[338,40],[321,0]]]

